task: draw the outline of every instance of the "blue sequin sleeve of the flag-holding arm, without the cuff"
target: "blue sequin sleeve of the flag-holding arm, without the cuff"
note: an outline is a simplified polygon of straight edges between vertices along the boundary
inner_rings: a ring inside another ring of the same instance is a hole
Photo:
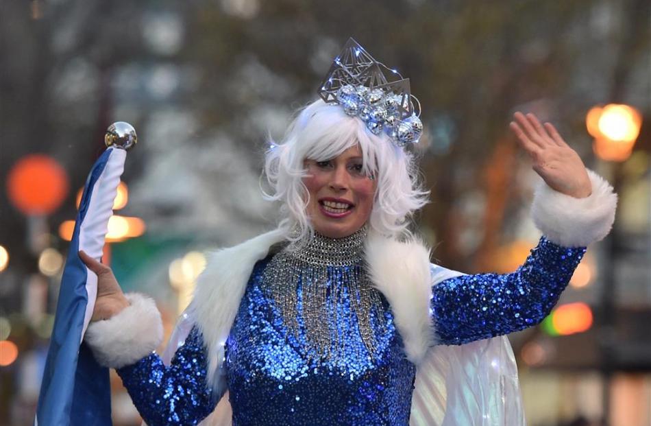
[[[196,425],[217,405],[206,386],[206,365],[204,340],[195,327],[170,366],[152,353],[117,372],[148,426]]]

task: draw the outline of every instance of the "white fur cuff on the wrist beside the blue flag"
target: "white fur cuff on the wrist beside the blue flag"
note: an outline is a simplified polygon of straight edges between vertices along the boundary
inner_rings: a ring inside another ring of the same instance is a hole
[[[121,368],[149,355],[162,342],[162,320],[153,299],[126,294],[130,306],[108,320],[91,322],[84,340],[97,362]]]

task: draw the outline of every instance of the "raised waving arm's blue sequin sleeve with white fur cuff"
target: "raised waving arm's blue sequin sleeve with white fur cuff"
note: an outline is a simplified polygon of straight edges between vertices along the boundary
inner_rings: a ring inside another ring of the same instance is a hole
[[[585,246],[604,238],[615,220],[613,187],[593,171],[587,174],[591,191],[584,198],[539,185],[532,219],[543,237],[517,271],[449,278],[450,271],[432,269],[430,312],[437,342],[463,344],[512,333],[550,313]]]

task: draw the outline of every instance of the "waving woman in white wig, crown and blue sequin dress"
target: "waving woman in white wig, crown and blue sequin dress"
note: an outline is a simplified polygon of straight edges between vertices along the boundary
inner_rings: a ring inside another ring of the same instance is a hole
[[[512,274],[462,275],[430,264],[429,250],[407,230],[427,196],[402,147],[417,139],[419,122],[404,91],[389,99],[404,80],[384,86],[377,99],[367,90],[360,75],[368,68],[355,62],[367,54],[359,49],[348,51],[353,62],[338,56],[326,82],[351,69],[345,75],[357,80],[340,84],[334,101],[324,84],[326,95],[267,153],[267,198],[280,202],[283,220],[213,255],[172,338],[170,366],[152,353],[162,340],[153,301],[125,296],[109,268],[80,253],[99,276],[86,342],[101,364],[117,368],[150,426],[196,424],[226,390],[234,425],[407,425],[416,421],[413,405],[429,410],[419,414],[423,424],[522,422],[517,399],[502,393],[517,390],[503,382],[504,372],[495,380],[484,379],[485,368],[474,377],[460,372],[464,383],[446,377],[447,403],[433,407],[436,401],[413,394],[417,369],[447,363],[463,370],[451,357],[507,368],[504,340],[484,339],[548,315],[585,246],[608,233],[616,196],[551,124],[517,113],[511,128],[546,182],[532,209],[539,245]],[[404,107],[395,123],[373,110],[378,99]],[[416,124],[412,132],[390,131],[401,123]],[[467,345],[477,341],[491,343]],[[462,346],[446,352],[445,345]],[[487,392],[496,396],[472,397],[470,405],[482,406],[469,408],[460,394],[482,386],[497,387]]]

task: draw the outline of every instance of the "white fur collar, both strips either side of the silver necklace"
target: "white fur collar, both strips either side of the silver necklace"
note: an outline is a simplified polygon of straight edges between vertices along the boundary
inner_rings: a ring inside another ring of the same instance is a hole
[[[283,241],[281,230],[214,252],[199,279],[193,309],[208,351],[208,378],[219,388],[224,343],[235,320],[249,276],[269,248]],[[421,241],[386,239],[369,232],[365,257],[373,285],[389,300],[406,357],[419,364],[432,345],[430,251]]]

